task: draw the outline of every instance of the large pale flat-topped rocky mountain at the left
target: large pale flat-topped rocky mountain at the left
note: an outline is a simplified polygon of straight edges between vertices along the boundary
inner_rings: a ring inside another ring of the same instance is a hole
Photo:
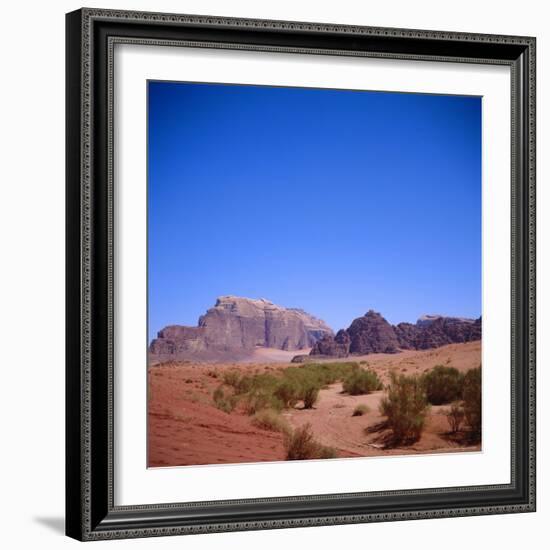
[[[149,347],[157,359],[239,359],[256,347],[301,350],[331,328],[301,309],[284,308],[263,298],[220,296],[199,318],[198,326],[171,325],[159,331]]]

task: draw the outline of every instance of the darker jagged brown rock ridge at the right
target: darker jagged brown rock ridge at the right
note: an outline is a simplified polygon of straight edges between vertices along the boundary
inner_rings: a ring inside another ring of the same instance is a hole
[[[324,336],[310,354],[347,357],[349,354],[397,353],[474,340],[481,340],[481,317],[424,315],[416,324],[391,325],[380,313],[370,310],[355,319],[349,328],[338,331],[335,337]]]

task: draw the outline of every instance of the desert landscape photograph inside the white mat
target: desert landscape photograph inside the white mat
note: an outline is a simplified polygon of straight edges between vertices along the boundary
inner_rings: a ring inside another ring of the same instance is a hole
[[[148,82],[152,468],[482,452],[481,98]]]

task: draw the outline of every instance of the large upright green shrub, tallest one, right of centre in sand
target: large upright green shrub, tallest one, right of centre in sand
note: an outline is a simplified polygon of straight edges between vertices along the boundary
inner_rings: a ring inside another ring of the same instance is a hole
[[[387,418],[394,443],[418,441],[428,411],[428,399],[421,378],[392,372],[388,394],[380,402],[380,413]]]

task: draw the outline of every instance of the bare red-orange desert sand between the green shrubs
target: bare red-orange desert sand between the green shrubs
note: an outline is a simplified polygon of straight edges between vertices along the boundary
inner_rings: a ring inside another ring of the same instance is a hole
[[[460,370],[477,367],[481,362],[481,344],[452,344],[435,350],[348,360],[366,360],[386,382],[392,369],[410,374],[421,373],[436,364]],[[236,368],[250,373],[288,366],[288,363],[171,363],[150,367],[149,466],[284,460],[281,434],[253,426],[251,418],[242,412],[225,413],[217,409],[212,393],[220,385],[224,370]],[[296,408],[282,414],[293,427],[309,422],[316,439],[334,447],[340,457],[480,450],[480,445],[466,446],[448,435],[447,419],[441,414],[446,407],[432,407],[420,441],[412,446],[386,448],[389,431],[380,426],[383,418],[378,412],[382,395],[383,392],[374,392],[350,396],[341,393],[340,384],[334,384],[321,390],[314,409]],[[353,409],[359,403],[368,405],[370,411],[353,417]]]

